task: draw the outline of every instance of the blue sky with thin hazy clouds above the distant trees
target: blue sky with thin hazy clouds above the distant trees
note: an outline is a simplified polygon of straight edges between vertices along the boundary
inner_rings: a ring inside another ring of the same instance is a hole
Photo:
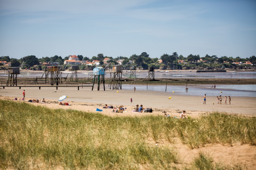
[[[0,56],[256,55],[254,0],[0,0]]]

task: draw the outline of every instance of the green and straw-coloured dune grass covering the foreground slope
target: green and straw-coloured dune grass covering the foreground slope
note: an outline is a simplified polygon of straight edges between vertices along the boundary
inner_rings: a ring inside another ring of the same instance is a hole
[[[177,137],[191,149],[209,143],[256,145],[252,118],[109,117],[8,100],[0,105],[0,168],[170,169],[181,163],[171,147]],[[161,141],[167,144],[155,145]],[[189,168],[204,166],[200,161],[209,162],[195,159]]]

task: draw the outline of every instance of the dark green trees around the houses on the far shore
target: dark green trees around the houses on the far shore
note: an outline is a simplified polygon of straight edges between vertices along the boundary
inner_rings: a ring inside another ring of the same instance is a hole
[[[2,56],[0,57],[0,61],[6,61],[11,62],[11,67],[18,67],[22,63],[27,64],[31,67],[34,65],[39,65],[40,62],[42,63],[48,63],[48,62],[59,62],[59,65],[63,65],[65,60],[68,60],[69,56],[66,56],[62,58],[61,56],[54,55],[52,57],[42,57],[37,58],[35,55],[28,55],[25,57],[22,57],[20,59],[16,58],[10,58],[9,56]],[[156,69],[172,69],[172,67],[175,68],[181,68],[181,69],[195,69],[195,67],[200,69],[208,68],[211,69],[211,67],[218,67],[218,68],[236,68],[241,67],[232,64],[232,62],[245,62],[250,61],[252,64],[256,63],[256,57],[253,55],[251,57],[247,58],[240,58],[239,56],[236,58],[233,57],[227,57],[227,56],[221,56],[218,58],[216,55],[205,55],[204,57],[200,57],[199,55],[193,55],[190,54],[187,57],[184,57],[183,55],[178,55],[177,52],[173,52],[171,55],[169,54],[163,54],[159,58],[150,58],[149,55],[146,52],[142,52],[140,55],[133,54],[129,58],[124,56],[117,56],[116,58],[104,56],[102,53],[98,54],[97,56],[92,56],[90,59],[89,57],[84,57],[83,55],[77,55],[80,61],[90,61],[92,60],[98,60],[100,61],[100,64],[103,65],[104,58],[109,58],[110,60],[108,63],[112,63],[114,65],[118,64],[117,61],[119,59],[123,60],[123,65],[129,63],[130,61],[133,61],[133,65],[136,65],[139,69],[148,69],[148,67],[155,67]],[[205,62],[198,62],[200,58]],[[159,64],[158,60],[161,59],[162,63]],[[179,64],[179,60],[184,60],[188,62],[188,64]],[[1,63],[0,63],[1,65]],[[40,70],[40,69],[39,69]]]

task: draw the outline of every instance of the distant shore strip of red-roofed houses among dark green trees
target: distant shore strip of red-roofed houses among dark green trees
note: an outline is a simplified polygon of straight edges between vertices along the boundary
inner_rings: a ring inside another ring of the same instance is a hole
[[[44,62],[48,61],[48,62]],[[45,67],[58,66],[63,64],[79,65],[90,67],[90,70],[95,66],[104,66],[106,64],[112,63],[113,65],[125,65],[131,64],[137,66],[138,69],[148,69],[148,67],[154,67],[155,69],[199,69],[199,70],[223,70],[223,69],[255,69],[256,57],[251,56],[250,58],[240,58],[240,57],[216,57],[215,55],[205,57],[199,57],[199,55],[188,55],[188,57],[183,57],[182,55],[177,55],[173,53],[172,55],[164,54],[158,58],[150,58],[146,52],[141,53],[141,55],[132,55],[128,57],[107,57],[103,54],[98,54],[97,57],[83,57],[82,55],[69,55],[62,59],[61,56],[55,55],[54,57],[42,57],[40,59],[36,58],[34,55],[26,56],[21,59],[10,59],[9,56],[0,57],[0,66],[5,67],[18,67],[22,63],[25,63],[25,67],[31,67],[29,69],[42,70]],[[82,67],[81,67],[82,68]],[[81,69],[82,70],[82,69]]]

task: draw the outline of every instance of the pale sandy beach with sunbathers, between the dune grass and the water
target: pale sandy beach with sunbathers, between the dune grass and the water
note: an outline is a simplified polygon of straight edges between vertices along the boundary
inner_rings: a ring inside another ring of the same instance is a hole
[[[231,105],[227,101],[227,105],[224,105],[224,98],[222,104],[218,104],[216,97],[206,96],[206,104],[203,104],[204,99],[202,96],[186,96],[179,93],[172,92],[155,92],[155,91],[138,91],[133,92],[131,90],[109,90],[103,91],[103,87],[100,87],[100,91],[91,90],[91,87],[80,88],[77,87],[59,87],[56,90],[54,87],[25,87],[19,89],[18,87],[5,87],[0,89],[0,99],[13,100],[15,97],[22,98],[23,89],[26,91],[25,101],[29,99],[43,98],[46,102],[51,104],[31,103],[34,105],[43,105],[50,108],[64,108],[64,109],[76,109],[81,111],[95,112],[97,108],[107,104],[108,106],[118,107],[123,105],[127,109],[124,111],[123,116],[140,116],[140,115],[162,115],[165,110],[170,115],[179,116],[182,110],[186,110],[187,114],[191,117],[197,117],[198,115],[210,114],[212,112],[221,112],[235,115],[244,115],[249,117],[256,116],[254,106],[256,105],[256,97],[232,97]],[[56,90],[56,92],[54,92]],[[118,92],[117,92],[118,91]],[[58,105],[58,99],[62,95],[68,95],[65,100],[71,106]],[[168,99],[172,97],[171,99]],[[223,96],[224,97],[224,96]],[[132,98],[133,102],[130,102]],[[23,102],[23,101],[22,101]],[[214,103],[214,104],[213,104]],[[152,108],[153,113],[134,113],[135,105],[143,105],[144,108]],[[112,112],[112,109],[103,109],[101,112],[106,115],[117,115]]]

